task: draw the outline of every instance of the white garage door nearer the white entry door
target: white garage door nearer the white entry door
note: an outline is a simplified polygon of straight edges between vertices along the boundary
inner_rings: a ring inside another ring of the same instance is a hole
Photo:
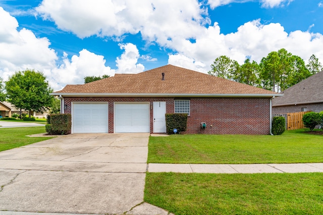
[[[115,132],[149,133],[149,103],[115,103]]]

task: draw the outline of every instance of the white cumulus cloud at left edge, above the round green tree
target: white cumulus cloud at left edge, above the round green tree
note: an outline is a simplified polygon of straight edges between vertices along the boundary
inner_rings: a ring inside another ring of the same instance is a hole
[[[4,80],[15,71],[46,71],[55,66],[57,55],[47,38],[37,38],[31,31],[17,30],[18,22],[0,7],[0,75]],[[44,72],[45,75],[48,75]]]

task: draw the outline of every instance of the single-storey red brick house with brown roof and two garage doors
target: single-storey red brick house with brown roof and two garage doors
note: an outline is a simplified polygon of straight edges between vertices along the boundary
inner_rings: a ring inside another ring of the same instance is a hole
[[[166,65],[52,93],[72,133],[166,133],[166,113],[187,113],[185,133],[269,134],[278,93]],[[206,128],[201,128],[201,122]]]

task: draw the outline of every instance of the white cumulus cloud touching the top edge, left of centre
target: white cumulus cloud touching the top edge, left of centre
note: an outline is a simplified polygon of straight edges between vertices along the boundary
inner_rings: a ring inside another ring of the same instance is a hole
[[[121,37],[140,31],[144,39],[163,45],[170,38],[193,36],[201,22],[209,22],[196,0],[43,0],[35,10],[80,38]]]

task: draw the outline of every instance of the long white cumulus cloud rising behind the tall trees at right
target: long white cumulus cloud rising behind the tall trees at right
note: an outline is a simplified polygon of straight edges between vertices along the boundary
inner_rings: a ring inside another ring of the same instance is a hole
[[[220,27],[215,23],[196,35],[195,43],[182,39],[172,45],[178,54],[170,55],[169,63],[204,72],[220,55],[227,55],[240,64],[247,56],[259,63],[262,57],[281,48],[286,48],[305,61],[312,54],[323,60],[323,51],[320,49],[323,47],[322,34],[307,31],[287,33],[279,23],[263,25],[260,20],[247,22],[237,32],[227,35],[221,34]]]

